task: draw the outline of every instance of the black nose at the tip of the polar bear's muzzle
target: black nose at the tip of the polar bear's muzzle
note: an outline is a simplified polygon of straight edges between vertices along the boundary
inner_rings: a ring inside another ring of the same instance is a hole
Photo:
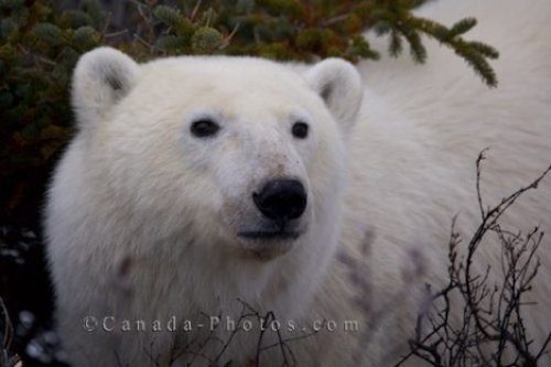
[[[299,218],[306,208],[306,191],[296,180],[269,181],[252,199],[266,217],[280,224]]]

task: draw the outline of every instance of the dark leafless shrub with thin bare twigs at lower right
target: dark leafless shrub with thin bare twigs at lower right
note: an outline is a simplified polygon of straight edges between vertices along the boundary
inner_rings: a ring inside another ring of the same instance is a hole
[[[543,233],[534,227],[531,231],[510,231],[501,228],[499,218],[527,191],[538,184],[551,171],[549,166],[529,185],[504,198],[498,205],[484,208],[480,195],[480,173],[484,152],[476,161],[476,190],[482,223],[466,248],[460,255],[462,242],[452,225],[449,249],[449,282],[432,294],[432,310],[419,316],[417,335],[410,341],[410,352],[396,364],[404,365],[413,357],[428,366],[523,366],[539,364],[551,343],[551,331],[542,345],[534,346],[526,327],[523,314],[530,311],[525,302],[538,273],[540,261],[536,256]],[[498,236],[501,244],[500,282],[491,283],[490,268],[478,273],[473,261],[483,239],[489,234]],[[461,313],[462,322],[452,322],[452,313]],[[428,326],[428,327],[426,327]]]

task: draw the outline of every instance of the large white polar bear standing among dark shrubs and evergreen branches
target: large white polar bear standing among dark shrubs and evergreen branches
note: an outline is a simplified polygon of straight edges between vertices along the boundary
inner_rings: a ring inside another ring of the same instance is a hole
[[[480,223],[479,152],[489,147],[487,205],[551,160],[551,6],[496,3],[422,12],[478,18],[472,36],[501,53],[497,89],[430,41],[424,66],[85,54],[73,80],[78,131],[45,216],[69,361],[392,366],[426,311],[425,283],[446,282],[454,217],[466,241]],[[550,218],[544,179],[501,223],[549,230]],[[475,259],[490,279],[499,246],[488,238]],[[541,345],[549,237],[538,253],[526,322]]]

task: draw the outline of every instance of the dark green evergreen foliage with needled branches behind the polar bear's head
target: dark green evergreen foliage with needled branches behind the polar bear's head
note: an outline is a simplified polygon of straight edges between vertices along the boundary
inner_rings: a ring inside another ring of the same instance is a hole
[[[0,219],[37,212],[45,181],[72,133],[68,89],[83,53],[116,46],[140,61],[161,55],[257,55],[311,62],[344,57],[377,60],[361,34],[389,34],[389,52],[404,44],[415,62],[426,60],[422,36],[463,57],[488,86],[488,64],[498,53],[463,36],[474,19],[446,28],[411,11],[424,0],[131,0],[131,29],[116,30],[97,0],[61,11],[51,0],[0,0]],[[31,214],[36,216],[36,214]]]

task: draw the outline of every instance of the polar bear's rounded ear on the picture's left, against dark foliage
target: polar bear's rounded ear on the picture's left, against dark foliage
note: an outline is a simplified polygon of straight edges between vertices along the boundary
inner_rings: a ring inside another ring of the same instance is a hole
[[[140,66],[110,47],[84,54],[73,74],[73,108],[80,128],[97,123],[134,86]]]

